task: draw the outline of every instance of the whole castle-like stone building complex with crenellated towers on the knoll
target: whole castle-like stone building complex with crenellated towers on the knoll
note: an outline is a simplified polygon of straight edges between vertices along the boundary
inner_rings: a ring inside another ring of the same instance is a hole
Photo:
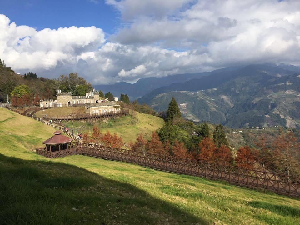
[[[114,97],[114,102],[100,97],[98,90],[85,93],[85,96],[72,96],[72,92],[62,92],[58,89],[56,100],[44,99],[40,100],[40,107],[63,107],[63,106],[87,106],[85,111],[87,114],[98,114],[107,112],[120,111],[120,105],[117,104],[118,97]]]

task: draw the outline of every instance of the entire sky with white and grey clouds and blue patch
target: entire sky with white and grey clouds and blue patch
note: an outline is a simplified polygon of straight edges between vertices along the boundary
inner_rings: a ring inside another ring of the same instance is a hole
[[[299,0],[0,0],[0,58],[89,82],[300,65]]]

